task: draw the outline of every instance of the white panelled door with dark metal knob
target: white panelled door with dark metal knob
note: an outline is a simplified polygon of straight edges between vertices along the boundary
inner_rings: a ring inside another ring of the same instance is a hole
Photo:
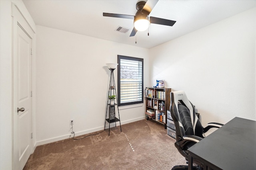
[[[22,25],[23,24],[23,25]],[[32,153],[32,38],[25,22],[14,21],[14,162],[22,170]]]

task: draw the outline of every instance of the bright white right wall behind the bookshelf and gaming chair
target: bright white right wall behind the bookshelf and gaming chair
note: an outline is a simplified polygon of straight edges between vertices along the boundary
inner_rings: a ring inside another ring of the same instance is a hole
[[[256,120],[256,8],[150,49],[151,80],[184,90],[202,123]]]

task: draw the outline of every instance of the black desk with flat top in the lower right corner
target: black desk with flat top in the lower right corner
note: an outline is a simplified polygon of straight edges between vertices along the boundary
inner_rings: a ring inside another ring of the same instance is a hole
[[[256,170],[256,121],[235,117],[190,149],[204,170]]]

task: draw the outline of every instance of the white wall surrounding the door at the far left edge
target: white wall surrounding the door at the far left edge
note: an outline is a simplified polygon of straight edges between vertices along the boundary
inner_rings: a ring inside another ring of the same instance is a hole
[[[12,3],[35,30],[35,23],[21,0],[0,0],[0,170],[13,168]]]

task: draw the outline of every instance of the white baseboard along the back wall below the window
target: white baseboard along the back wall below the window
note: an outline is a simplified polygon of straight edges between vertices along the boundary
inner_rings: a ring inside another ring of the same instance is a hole
[[[124,125],[124,124],[127,124],[127,123],[132,123],[134,121],[139,121],[139,120],[143,120],[143,119],[145,119],[145,116],[139,117],[139,118],[136,118],[136,119],[130,119],[130,120],[127,120],[127,121],[122,121],[121,125]],[[120,122],[119,121],[116,122],[116,125],[119,126]],[[106,128],[107,127],[108,126],[106,125]],[[115,124],[114,123],[110,124],[110,128],[111,127],[115,127]],[[75,134],[76,134],[76,136],[80,136],[80,135],[85,135],[85,134],[88,134],[88,133],[93,133],[93,132],[102,131],[102,130],[104,130],[104,126],[97,127],[97,128],[94,128],[94,129],[88,129],[88,130],[85,130],[85,131],[75,132]],[[72,137],[73,137],[72,134],[71,134],[71,137],[70,137],[70,134],[67,134],[67,135],[63,135],[63,136],[59,136],[59,137],[54,137],[54,138],[51,138],[51,139],[46,139],[46,140],[43,140],[43,141],[36,141],[34,149],[36,149],[36,147],[40,146],[40,145],[44,145],[44,144],[52,143],[52,142],[56,142],[56,141],[61,141],[61,140],[72,138]]]

